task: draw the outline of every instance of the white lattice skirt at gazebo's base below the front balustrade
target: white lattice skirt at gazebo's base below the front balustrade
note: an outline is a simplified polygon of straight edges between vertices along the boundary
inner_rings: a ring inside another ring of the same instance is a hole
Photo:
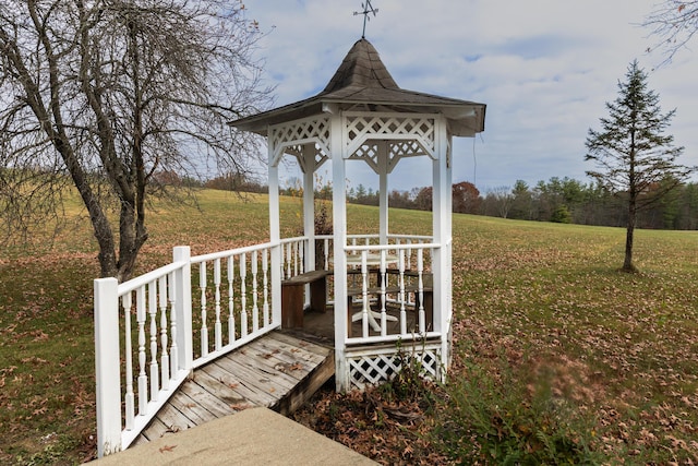
[[[404,358],[419,358],[422,365],[422,375],[429,379],[441,377],[441,351],[437,348],[424,348],[416,354],[404,355]],[[365,385],[387,382],[401,369],[404,360],[395,353],[378,355],[349,356],[349,383],[351,387],[363,390]]]

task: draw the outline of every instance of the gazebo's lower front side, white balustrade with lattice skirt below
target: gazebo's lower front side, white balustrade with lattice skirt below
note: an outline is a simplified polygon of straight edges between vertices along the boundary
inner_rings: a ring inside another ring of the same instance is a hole
[[[450,299],[444,290],[452,276],[443,261],[450,264],[450,243],[443,248],[431,237],[399,235],[388,235],[387,244],[377,235],[350,236],[347,242],[348,296],[339,308],[351,319],[335,320],[337,390],[385,382],[405,358],[418,359],[423,375],[445,381]]]

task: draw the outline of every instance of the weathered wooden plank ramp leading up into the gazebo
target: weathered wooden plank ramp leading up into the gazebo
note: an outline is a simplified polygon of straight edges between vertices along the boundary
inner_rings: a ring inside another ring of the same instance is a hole
[[[253,406],[288,415],[334,373],[332,348],[274,331],[196,369],[133,445]]]

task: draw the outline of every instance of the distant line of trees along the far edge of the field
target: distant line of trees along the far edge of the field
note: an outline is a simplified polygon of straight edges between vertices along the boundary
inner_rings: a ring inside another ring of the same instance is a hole
[[[228,191],[267,193],[268,187],[241,174],[217,176],[197,181],[180,178],[174,174],[156,177],[166,184],[190,188],[208,188]],[[671,180],[665,180],[671,182]],[[653,190],[660,190],[655,186]],[[287,187],[281,195],[301,196],[302,188]],[[486,215],[521,220],[554,222],[564,224],[623,227],[627,222],[627,203],[624,193],[612,194],[598,183],[583,183],[571,178],[553,177],[529,186],[517,180],[514,187],[497,187],[482,194],[474,184],[461,181],[453,186],[453,212]],[[650,196],[652,192],[646,192]],[[322,184],[317,199],[332,199],[332,186]],[[380,192],[363,184],[347,191],[347,201],[353,204],[378,205]],[[411,191],[393,190],[388,205],[394,208],[431,211],[432,188],[414,188]],[[638,227],[652,229],[698,229],[698,183],[682,183],[661,202],[640,214]]]

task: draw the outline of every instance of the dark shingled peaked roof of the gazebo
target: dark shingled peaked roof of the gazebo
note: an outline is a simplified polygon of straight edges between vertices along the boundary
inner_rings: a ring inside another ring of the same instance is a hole
[[[358,40],[320,94],[231,121],[230,124],[267,135],[269,126],[320,115],[329,109],[442,113],[456,136],[472,136],[484,130],[486,106],[400,88],[385,68],[378,52],[365,38]]]

